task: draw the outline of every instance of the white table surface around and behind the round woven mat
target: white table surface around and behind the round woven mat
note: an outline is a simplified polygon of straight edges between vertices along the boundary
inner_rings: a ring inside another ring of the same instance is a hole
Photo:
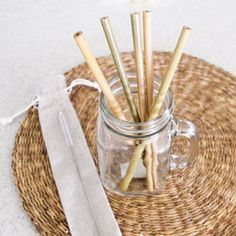
[[[0,116],[37,93],[40,80],[83,61],[73,33],[85,32],[96,56],[109,53],[99,18],[109,15],[121,51],[132,50],[129,13],[152,10],[154,47],[173,50],[182,25],[193,30],[185,52],[236,74],[235,0],[8,0],[0,4]],[[0,235],[38,235],[11,174],[11,151],[22,118],[0,130]]]

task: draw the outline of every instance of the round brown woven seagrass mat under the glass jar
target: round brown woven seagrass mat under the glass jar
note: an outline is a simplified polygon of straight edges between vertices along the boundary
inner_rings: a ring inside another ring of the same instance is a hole
[[[169,53],[154,54],[156,75],[165,74],[169,60]],[[123,61],[127,71],[135,70],[132,54],[123,54]],[[107,79],[117,74],[111,57],[98,62]],[[93,79],[85,64],[66,73],[68,83],[78,76]],[[176,116],[193,121],[199,129],[199,155],[192,168],[170,174],[162,194],[132,198],[107,192],[122,233],[236,235],[236,78],[204,60],[183,55],[172,91]],[[71,101],[97,165],[98,94],[80,87]],[[38,231],[69,235],[35,109],[16,136],[12,168],[24,208]]]

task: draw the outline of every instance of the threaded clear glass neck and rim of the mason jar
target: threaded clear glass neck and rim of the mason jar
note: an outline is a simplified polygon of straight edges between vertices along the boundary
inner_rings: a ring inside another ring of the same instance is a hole
[[[131,92],[134,97],[137,97],[137,81],[134,74],[127,74]],[[154,78],[154,98],[158,92],[161,80],[158,77]],[[122,84],[118,76],[111,78],[108,81],[113,94],[118,98],[118,102],[122,105],[125,115],[130,114],[126,99],[124,97]],[[136,101],[138,107],[138,103]],[[150,139],[156,135],[168,124],[172,117],[173,98],[170,91],[168,91],[163,104],[163,111],[161,115],[154,120],[145,122],[134,122],[132,117],[128,121],[117,118],[109,109],[109,104],[104,94],[100,95],[100,116],[104,125],[111,131],[118,135],[126,136],[132,139]],[[128,117],[128,115],[127,115]]]

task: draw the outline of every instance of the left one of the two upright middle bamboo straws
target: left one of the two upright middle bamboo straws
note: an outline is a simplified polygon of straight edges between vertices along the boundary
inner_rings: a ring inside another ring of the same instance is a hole
[[[140,13],[131,14],[133,44],[136,62],[136,76],[138,81],[138,97],[139,97],[139,110],[141,121],[145,121],[146,116],[146,99],[145,99],[145,80],[144,80],[144,67],[143,67],[143,48],[141,37],[141,22]]]

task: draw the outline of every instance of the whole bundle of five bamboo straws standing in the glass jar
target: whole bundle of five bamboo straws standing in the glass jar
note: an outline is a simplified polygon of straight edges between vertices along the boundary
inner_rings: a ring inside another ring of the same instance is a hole
[[[114,33],[112,31],[109,17],[102,17],[100,20],[118,71],[121,84],[123,86],[124,94],[126,96],[133,120],[135,122],[144,122],[156,119],[160,115],[162,104],[170,87],[170,83],[174,77],[175,71],[183,53],[185,42],[188,38],[191,29],[186,26],[182,28],[179,39],[177,41],[177,45],[172,54],[166,75],[161,82],[156,98],[153,99],[152,13],[150,11],[143,12],[144,50],[142,45],[141,13],[131,14],[133,45],[136,63],[136,77],[138,84],[138,109],[135,104],[134,97],[131,93],[129,81],[124,69],[121,55],[118,50]],[[113,113],[118,118],[126,120],[126,117],[123,114],[123,111],[117,99],[113,95],[107,80],[105,79],[95,57],[93,56],[92,52],[88,47],[88,44],[83,36],[83,32],[75,33],[74,38],[89,68],[93,72],[95,79],[97,80],[102,92],[107,98],[107,101]],[[157,188],[156,170],[158,161],[156,146],[153,143],[140,143],[139,145],[135,146],[133,156],[129,162],[126,175],[119,183],[119,189],[122,192],[126,192],[128,190],[129,184],[135,174],[138,161],[142,157],[144,158],[144,164],[146,167],[147,189],[149,192],[152,192]]]

